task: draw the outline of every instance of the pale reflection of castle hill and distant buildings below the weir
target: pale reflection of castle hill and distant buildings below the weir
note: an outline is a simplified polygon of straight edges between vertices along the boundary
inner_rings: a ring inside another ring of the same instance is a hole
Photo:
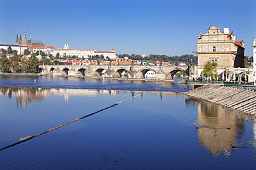
[[[0,96],[8,96],[8,98],[15,97],[17,107],[27,107],[28,103],[32,105],[33,102],[42,102],[44,98],[53,98],[55,96],[64,96],[64,100],[68,102],[71,96],[111,96],[114,98],[118,93],[130,93],[135,96],[136,92],[140,91],[119,91],[119,90],[105,90],[105,89],[53,89],[53,88],[36,88],[36,87],[0,87]],[[176,92],[143,92],[159,94],[162,99],[162,94],[176,94]]]

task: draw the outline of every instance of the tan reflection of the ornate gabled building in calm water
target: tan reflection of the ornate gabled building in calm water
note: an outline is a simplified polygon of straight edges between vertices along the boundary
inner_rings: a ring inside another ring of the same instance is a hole
[[[199,145],[217,157],[221,153],[230,156],[232,146],[244,137],[246,115],[235,113],[220,105],[198,103],[196,128]]]

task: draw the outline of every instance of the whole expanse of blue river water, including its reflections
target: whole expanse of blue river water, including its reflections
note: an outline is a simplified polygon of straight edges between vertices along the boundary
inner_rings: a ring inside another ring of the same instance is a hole
[[[36,79],[0,77],[0,148],[130,99],[1,150],[0,169],[255,169],[255,118],[179,93],[179,79]]]

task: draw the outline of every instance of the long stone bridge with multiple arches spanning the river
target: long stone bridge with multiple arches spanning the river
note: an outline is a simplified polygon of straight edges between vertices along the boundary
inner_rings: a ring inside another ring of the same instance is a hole
[[[163,66],[163,65],[42,65],[43,76],[73,76],[81,78],[122,78],[145,79],[145,74],[152,70],[155,72],[156,81],[173,81],[176,72],[183,70],[190,76],[188,66]],[[124,76],[124,72],[126,75]],[[193,73],[192,73],[193,74]]]

